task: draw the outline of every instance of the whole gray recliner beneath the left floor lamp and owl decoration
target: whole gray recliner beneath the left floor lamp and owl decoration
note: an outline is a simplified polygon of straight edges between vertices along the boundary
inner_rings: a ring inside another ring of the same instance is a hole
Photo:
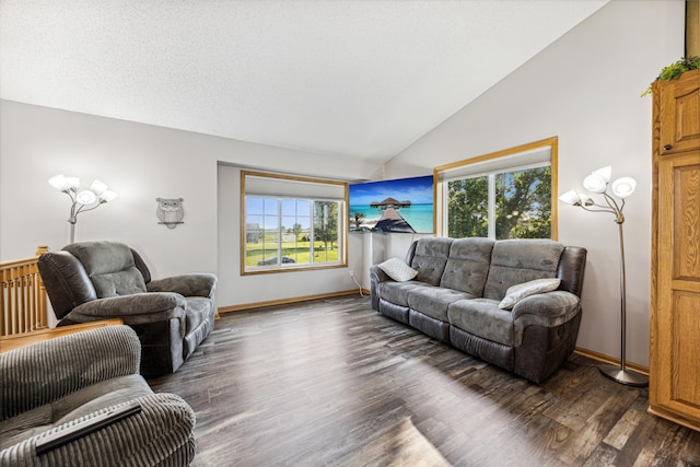
[[[38,268],[58,325],[121,318],[141,341],[143,375],[175,372],[214,327],[214,275],[151,280],[122,243],[73,243],[42,255]]]

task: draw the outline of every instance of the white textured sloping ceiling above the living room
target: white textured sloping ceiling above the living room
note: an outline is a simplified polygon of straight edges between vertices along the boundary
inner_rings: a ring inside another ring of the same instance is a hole
[[[607,1],[1,0],[0,96],[382,162]]]

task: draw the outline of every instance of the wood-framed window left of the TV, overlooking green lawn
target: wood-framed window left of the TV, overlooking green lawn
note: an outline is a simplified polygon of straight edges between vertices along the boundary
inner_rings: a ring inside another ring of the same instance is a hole
[[[347,184],[242,172],[242,273],[345,266]]]

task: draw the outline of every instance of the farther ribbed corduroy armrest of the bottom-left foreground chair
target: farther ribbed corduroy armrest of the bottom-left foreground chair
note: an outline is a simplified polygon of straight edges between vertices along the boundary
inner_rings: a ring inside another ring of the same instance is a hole
[[[2,353],[1,419],[101,381],[137,374],[140,362],[141,343],[128,326],[91,329]]]

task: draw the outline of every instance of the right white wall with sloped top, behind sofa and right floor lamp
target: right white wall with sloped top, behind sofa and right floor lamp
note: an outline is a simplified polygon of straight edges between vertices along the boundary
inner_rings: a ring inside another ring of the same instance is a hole
[[[637,178],[637,192],[625,208],[627,357],[648,365],[652,137],[651,98],[640,93],[682,54],[684,2],[612,1],[394,157],[385,173],[412,176],[558,136],[560,192],[582,189],[581,179],[604,165],[612,165],[614,177]],[[578,346],[619,357],[612,215],[560,203],[559,240],[588,249]]]

